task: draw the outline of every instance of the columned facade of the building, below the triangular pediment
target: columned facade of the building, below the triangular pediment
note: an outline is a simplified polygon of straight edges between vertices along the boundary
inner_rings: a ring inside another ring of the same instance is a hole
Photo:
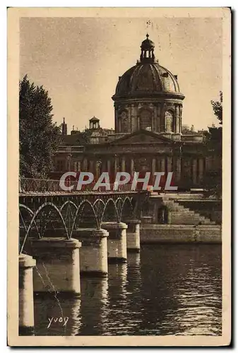
[[[106,146],[105,146],[106,147]],[[107,147],[108,148],[108,147]],[[95,179],[99,177],[98,166],[102,168],[100,172],[109,172],[109,176],[114,182],[114,177],[117,172],[127,172],[133,176],[134,172],[138,172],[140,177],[145,175],[145,172],[150,172],[150,185],[154,184],[155,172],[165,172],[165,176],[168,172],[173,172],[173,183],[174,186],[178,186],[180,189],[189,189],[191,187],[203,187],[204,174],[206,173],[206,157],[203,155],[188,155],[183,154],[183,151],[179,152],[167,152],[161,153],[156,152],[141,152],[138,148],[138,152],[122,152],[124,146],[121,148],[118,146],[117,153],[107,152],[105,154],[101,150],[95,155],[95,152],[87,155],[88,168],[84,169],[85,172],[91,172],[95,175]],[[90,162],[90,159],[93,162]],[[164,179],[162,177],[162,179]]]

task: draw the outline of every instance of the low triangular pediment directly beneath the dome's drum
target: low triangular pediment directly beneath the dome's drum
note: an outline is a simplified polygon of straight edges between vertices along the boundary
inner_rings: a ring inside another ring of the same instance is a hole
[[[111,145],[145,145],[145,144],[168,144],[172,143],[172,140],[160,136],[157,133],[151,131],[139,131],[132,133],[131,135],[124,136],[112,141]]]

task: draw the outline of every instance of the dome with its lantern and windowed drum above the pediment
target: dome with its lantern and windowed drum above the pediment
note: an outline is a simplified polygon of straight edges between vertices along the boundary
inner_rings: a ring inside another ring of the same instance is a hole
[[[182,102],[177,75],[155,59],[155,44],[141,44],[136,65],[119,77],[112,99],[115,107],[116,133],[133,133],[140,129],[179,139],[182,133]]]

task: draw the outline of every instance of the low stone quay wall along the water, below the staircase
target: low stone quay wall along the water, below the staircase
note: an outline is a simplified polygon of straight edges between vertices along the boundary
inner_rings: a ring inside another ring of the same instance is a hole
[[[221,243],[220,225],[141,225],[141,244]]]

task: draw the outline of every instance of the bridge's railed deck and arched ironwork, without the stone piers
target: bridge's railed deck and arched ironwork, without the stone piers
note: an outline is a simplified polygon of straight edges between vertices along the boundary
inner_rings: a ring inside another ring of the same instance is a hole
[[[75,184],[76,181],[71,181]],[[113,189],[113,188],[110,188]],[[105,187],[83,191],[62,191],[59,180],[19,180],[20,253],[28,237],[41,239],[56,233],[71,239],[78,228],[100,229],[103,222],[140,219],[148,193],[132,191],[130,185],[119,185],[117,191]],[[61,225],[61,227],[59,227]]]

